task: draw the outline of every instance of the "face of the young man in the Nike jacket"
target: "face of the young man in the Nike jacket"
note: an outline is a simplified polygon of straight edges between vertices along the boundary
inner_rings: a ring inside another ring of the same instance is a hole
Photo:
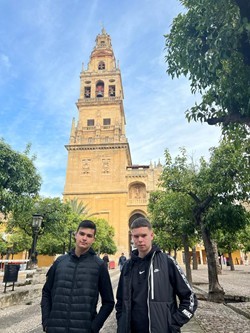
[[[131,234],[134,245],[139,251],[139,257],[145,257],[152,248],[153,230],[150,230],[148,227],[140,227],[132,229]]]

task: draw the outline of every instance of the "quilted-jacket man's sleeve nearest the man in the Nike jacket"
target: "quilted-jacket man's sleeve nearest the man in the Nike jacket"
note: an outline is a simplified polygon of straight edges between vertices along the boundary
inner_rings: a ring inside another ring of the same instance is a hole
[[[111,280],[107,267],[102,264],[100,266],[100,275],[99,275],[99,293],[101,295],[101,308],[96,315],[95,319],[92,322],[92,332],[97,333],[102,328],[105,320],[108,318],[112,312],[115,302],[113,289],[111,285]]]

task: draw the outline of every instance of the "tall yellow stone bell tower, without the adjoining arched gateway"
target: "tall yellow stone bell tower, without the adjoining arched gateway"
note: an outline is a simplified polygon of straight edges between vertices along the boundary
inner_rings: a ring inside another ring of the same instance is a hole
[[[78,198],[89,213],[112,223],[116,204],[126,200],[125,174],[131,165],[125,133],[121,72],[110,36],[96,37],[87,69],[80,73],[78,122],[72,121],[64,199]],[[124,202],[125,204],[125,202]],[[118,216],[116,217],[118,218]]]

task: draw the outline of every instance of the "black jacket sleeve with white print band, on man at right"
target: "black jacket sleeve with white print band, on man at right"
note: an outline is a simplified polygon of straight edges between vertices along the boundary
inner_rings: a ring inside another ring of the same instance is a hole
[[[179,298],[179,306],[173,314],[174,324],[179,327],[186,324],[194,315],[197,309],[197,298],[190,286],[183,270],[174,258],[168,257],[170,283]]]

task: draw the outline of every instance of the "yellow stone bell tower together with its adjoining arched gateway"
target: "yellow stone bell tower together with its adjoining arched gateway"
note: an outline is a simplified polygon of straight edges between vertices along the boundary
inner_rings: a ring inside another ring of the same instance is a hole
[[[63,197],[88,205],[89,214],[115,229],[119,255],[131,250],[129,225],[147,216],[149,193],[157,189],[158,165],[133,165],[125,132],[123,86],[110,36],[102,29],[80,73],[78,121],[72,121]]]

